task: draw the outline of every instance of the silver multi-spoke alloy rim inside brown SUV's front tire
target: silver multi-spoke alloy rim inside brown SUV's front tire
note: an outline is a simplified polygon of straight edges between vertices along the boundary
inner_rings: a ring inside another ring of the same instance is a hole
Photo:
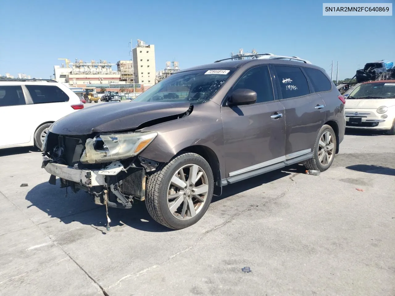
[[[184,165],[171,178],[167,188],[167,206],[177,219],[190,219],[203,208],[208,191],[204,170],[195,164]]]

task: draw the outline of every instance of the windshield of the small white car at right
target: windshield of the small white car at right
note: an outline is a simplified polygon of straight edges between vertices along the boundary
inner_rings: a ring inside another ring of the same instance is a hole
[[[374,82],[361,84],[347,99],[389,99],[395,98],[395,82]]]

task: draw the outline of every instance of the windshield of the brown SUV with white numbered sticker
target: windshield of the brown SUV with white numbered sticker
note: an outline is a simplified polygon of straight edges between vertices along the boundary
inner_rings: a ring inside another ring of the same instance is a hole
[[[213,97],[233,71],[221,68],[175,73],[150,87],[133,101],[189,101],[192,104],[201,104]]]

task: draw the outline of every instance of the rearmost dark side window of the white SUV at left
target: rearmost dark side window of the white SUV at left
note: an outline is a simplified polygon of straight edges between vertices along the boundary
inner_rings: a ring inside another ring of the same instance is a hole
[[[67,102],[68,95],[55,85],[26,85],[34,104]]]

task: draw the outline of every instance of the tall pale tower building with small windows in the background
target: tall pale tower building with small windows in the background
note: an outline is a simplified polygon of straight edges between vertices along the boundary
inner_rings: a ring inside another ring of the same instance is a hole
[[[144,86],[155,84],[155,45],[145,44],[144,41],[137,40],[137,46],[133,49],[133,66],[135,83]]]

